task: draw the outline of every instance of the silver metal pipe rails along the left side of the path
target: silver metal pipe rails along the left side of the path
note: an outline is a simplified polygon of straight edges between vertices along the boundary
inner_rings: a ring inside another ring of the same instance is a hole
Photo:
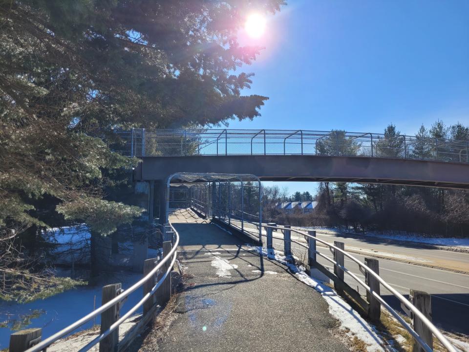
[[[130,286],[128,289],[123,290],[119,295],[111,299],[109,302],[105,303],[101,307],[93,310],[92,312],[86,314],[83,318],[77,320],[76,322],[70,324],[69,326],[65,327],[64,329],[56,332],[52,336],[46,338],[45,340],[41,341],[37,345],[31,347],[30,349],[26,350],[25,352],[39,352],[42,351],[43,349],[47,348],[50,346],[52,343],[56,342],[60,338],[64,337],[68,333],[72,332],[73,330],[79,328],[83,324],[87,323],[94,317],[98,316],[108,308],[111,308],[112,306],[118,304],[119,302],[123,301],[125,298],[128,297],[130,293],[135,291],[137,288],[143,286],[147,281],[149,281],[151,278],[154,277],[154,275],[160,270],[166,262],[168,262],[171,259],[172,265],[174,265],[174,262],[176,260],[176,250],[177,246],[179,244],[179,233],[176,231],[176,229],[172,226],[170,222],[170,226],[172,231],[174,232],[174,245],[171,248],[170,252],[143,278],[141,278],[139,281],[137,281],[135,284]],[[169,266],[169,269],[166,271],[165,275],[161,277],[158,282],[153,286],[151,291],[147,293],[135,306],[130,308],[130,310],[124,314],[119,320],[117,320],[114,324],[112,324],[106,331],[102,332],[100,335],[98,335],[95,339],[93,339],[89,344],[87,344],[84,348],[82,348],[80,351],[87,351],[89,348],[92,346],[96,345],[99,341],[104,339],[107,335],[109,335],[113,330],[117,329],[119,325],[121,325],[124,320],[126,320],[132,313],[134,313],[138,308],[140,308],[145,301],[149,299],[149,297],[156,292],[156,289],[161,286],[163,281],[166,279],[166,277],[169,275],[168,273],[171,272],[172,265]],[[85,349],[87,348],[87,349]]]

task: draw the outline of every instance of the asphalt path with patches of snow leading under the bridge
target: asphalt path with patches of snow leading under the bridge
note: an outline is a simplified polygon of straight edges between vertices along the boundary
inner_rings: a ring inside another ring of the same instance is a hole
[[[259,257],[207,220],[185,211],[171,222],[193,277],[160,351],[348,351],[314,289]]]

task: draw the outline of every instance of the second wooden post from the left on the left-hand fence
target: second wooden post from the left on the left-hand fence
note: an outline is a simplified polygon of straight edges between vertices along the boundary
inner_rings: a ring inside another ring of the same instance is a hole
[[[121,291],[122,284],[112,284],[103,287],[101,305],[106,304],[111,299],[117,297]],[[101,313],[101,330],[103,333],[119,319],[119,304],[106,309]],[[117,343],[119,342],[119,328],[112,331],[104,339],[99,342],[99,352],[117,351]]]

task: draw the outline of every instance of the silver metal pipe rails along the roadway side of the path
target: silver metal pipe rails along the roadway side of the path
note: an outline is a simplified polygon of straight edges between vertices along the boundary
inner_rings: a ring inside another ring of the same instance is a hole
[[[279,230],[288,230],[288,231],[291,231],[291,232],[295,232],[295,233],[298,233],[300,235],[303,235],[303,236],[306,236],[316,242],[320,242],[322,244],[325,244],[326,246],[328,246],[329,248],[331,249],[334,249],[335,251],[339,251],[341,252],[344,256],[346,256],[347,258],[351,259],[353,262],[355,262],[356,264],[359,265],[359,267],[366,271],[369,275],[373,276],[376,280],[378,280],[378,282],[383,285],[388,291],[390,291],[395,297],[397,297],[407,308],[409,308],[409,310],[412,311],[412,313],[414,313],[421,321],[423,324],[426,325],[426,327],[433,333],[433,335],[435,335],[435,337],[443,344],[443,346],[449,351],[449,352],[457,352],[457,350],[454,348],[453,345],[451,345],[451,343],[448,341],[448,339],[440,332],[440,330],[438,330],[432,323],[431,321],[429,321],[426,316],[418,309],[416,308],[412,303],[410,303],[402,294],[400,294],[398,291],[396,291],[392,286],[390,286],[388,283],[386,283],[377,273],[375,273],[372,269],[370,269],[366,264],[363,264],[361,263],[357,258],[355,258],[354,256],[352,256],[351,254],[347,253],[346,251],[342,250],[341,248],[339,247],[336,247],[335,245],[333,244],[330,244],[328,242],[325,242],[323,240],[320,240],[318,239],[317,237],[314,237],[314,236],[311,236],[309,235],[308,233],[305,233],[305,232],[302,232],[302,231],[299,231],[299,230],[296,230],[294,228],[285,228],[285,227],[278,227],[278,226],[271,226],[271,225],[262,225],[262,227],[265,227],[265,228],[272,228],[272,229],[279,229]],[[266,235],[262,234],[262,236],[266,237]],[[272,236],[272,238],[275,238],[275,239],[278,239],[278,240],[283,240],[285,241],[284,238],[280,238],[280,237],[277,237],[277,236]],[[300,243],[298,241],[295,241],[295,240],[290,240],[290,242],[294,242],[294,243],[297,243],[299,244],[300,246],[304,247],[304,248],[308,248],[309,249],[309,246],[307,245],[304,245],[303,243]],[[353,279],[355,279],[360,285],[362,285],[368,292],[370,292],[370,294],[372,294],[378,301],[380,301],[380,303],[384,306],[384,308],[386,308],[387,311],[389,311],[389,313],[392,314],[392,316],[394,316],[394,318],[396,318],[400,323],[401,325],[405,328],[405,330],[407,330],[411,335],[412,337],[415,338],[415,340],[419,343],[419,345],[427,352],[432,352],[433,351],[433,348],[429,347],[425,341],[423,341],[423,339],[417,334],[417,332],[415,332],[415,330],[412,329],[412,327],[393,309],[389,306],[389,304],[387,304],[384,299],[378,294],[376,293],[375,291],[373,291],[368,285],[366,285],[360,278],[358,278],[354,273],[350,272],[347,268],[345,268],[344,266],[342,265],[338,265],[334,260],[330,259],[329,257],[323,255],[322,253],[318,252],[318,251],[314,251],[316,254],[320,255],[320,257],[328,260],[329,262],[337,265],[339,268],[341,268],[344,272],[346,272],[347,274],[349,274]]]

